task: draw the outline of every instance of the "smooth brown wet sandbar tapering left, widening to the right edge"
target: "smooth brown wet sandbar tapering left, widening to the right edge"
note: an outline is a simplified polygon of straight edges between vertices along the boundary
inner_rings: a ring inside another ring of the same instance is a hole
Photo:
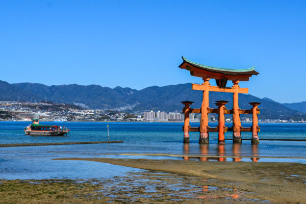
[[[250,200],[269,200],[272,203],[306,202],[305,164],[106,158],[67,158],[61,160],[104,162],[155,172],[168,172],[180,175],[183,179],[184,176],[195,176],[197,179],[194,179],[196,181],[194,185],[207,186],[208,188],[212,186],[220,189],[213,194],[208,192],[202,195],[210,202],[221,201],[228,195],[238,199],[242,195],[235,193],[234,189],[238,192],[244,192],[243,197]],[[222,189],[232,189],[234,192],[228,194],[226,190]]]

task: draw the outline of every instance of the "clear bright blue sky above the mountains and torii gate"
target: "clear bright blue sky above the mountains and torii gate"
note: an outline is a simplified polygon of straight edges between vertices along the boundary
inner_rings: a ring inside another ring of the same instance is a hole
[[[306,1],[0,2],[0,80],[142,89],[201,83],[181,56],[256,66],[249,93],[306,100]]]

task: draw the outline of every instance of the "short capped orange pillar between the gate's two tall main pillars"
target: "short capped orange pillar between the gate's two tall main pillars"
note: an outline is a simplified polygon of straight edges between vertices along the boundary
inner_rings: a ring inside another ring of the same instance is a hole
[[[216,101],[216,105],[218,106],[218,113],[219,113],[219,117],[218,117],[218,144],[224,144],[224,132],[226,131],[226,127],[225,127],[225,118],[224,118],[224,109],[225,108],[225,104],[228,103],[228,101],[225,100],[218,100]]]

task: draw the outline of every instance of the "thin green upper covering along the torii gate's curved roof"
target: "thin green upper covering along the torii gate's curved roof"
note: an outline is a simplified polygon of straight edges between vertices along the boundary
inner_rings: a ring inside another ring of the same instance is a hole
[[[182,56],[182,59],[183,59],[183,63],[179,66],[181,68],[181,66],[186,62],[190,65],[193,65],[197,68],[200,68],[200,69],[205,69],[205,70],[208,70],[208,71],[213,71],[213,72],[221,72],[221,73],[224,73],[224,74],[259,74],[257,71],[255,71],[255,67],[251,67],[251,68],[247,68],[247,69],[228,69],[228,68],[220,68],[220,67],[212,67],[212,66],[206,66],[206,65],[202,65],[202,64],[199,64],[199,63],[196,63],[196,62],[192,62],[186,58],[184,58]]]

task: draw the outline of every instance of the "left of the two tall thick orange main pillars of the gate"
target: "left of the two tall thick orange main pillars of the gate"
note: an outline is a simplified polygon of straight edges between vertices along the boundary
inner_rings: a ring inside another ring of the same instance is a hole
[[[203,90],[203,99],[201,105],[201,122],[200,122],[200,138],[199,144],[209,143],[209,133],[208,133],[208,112],[207,108],[209,106],[209,78],[203,78],[202,85],[205,87]]]

